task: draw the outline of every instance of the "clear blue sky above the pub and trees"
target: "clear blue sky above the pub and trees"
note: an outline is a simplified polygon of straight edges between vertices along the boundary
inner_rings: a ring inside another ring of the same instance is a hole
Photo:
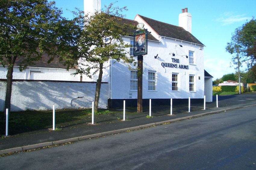
[[[55,2],[66,18],[72,18],[72,13],[66,9],[72,11],[77,7],[83,10],[83,0]],[[114,2],[101,0],[101,8]],[[192,15],[192,34],[205,45],[204,69],[214,77],[213,80],[235,72],[232,55],[225,50],[226,44],[236,28],[251,20],[252,16],[256,17],[255,0],[118,0],[115,5],[127,7],[128,11],[122,13],[127,19],[134,19],[139,14],[172,25],[178,25],[181,9],[188,8]]]

